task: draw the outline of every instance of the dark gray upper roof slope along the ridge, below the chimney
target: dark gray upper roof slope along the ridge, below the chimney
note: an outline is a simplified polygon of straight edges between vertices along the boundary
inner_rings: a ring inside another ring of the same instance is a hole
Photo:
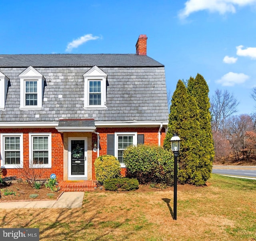
[[[136,54],[0,54],[0,67],[132,67],[164,66]]]

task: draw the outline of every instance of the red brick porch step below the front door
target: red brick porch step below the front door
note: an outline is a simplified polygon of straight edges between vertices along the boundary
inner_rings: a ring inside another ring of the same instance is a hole
[[[59,187],[64,192],[86,192],[94,191],[97,187],[96,180],[85,181],[60,181]]]

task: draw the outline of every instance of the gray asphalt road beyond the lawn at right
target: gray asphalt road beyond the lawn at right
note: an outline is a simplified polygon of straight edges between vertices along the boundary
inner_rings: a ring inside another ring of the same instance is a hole
[[[212,173],[256,178],[256,166],[214,166]]]

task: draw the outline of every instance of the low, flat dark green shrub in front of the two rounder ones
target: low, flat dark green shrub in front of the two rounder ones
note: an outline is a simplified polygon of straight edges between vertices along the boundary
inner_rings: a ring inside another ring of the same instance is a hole
[[[105,190],[131,191],[139,188],[139,182],[134,178],[109,178],[104,181]]]

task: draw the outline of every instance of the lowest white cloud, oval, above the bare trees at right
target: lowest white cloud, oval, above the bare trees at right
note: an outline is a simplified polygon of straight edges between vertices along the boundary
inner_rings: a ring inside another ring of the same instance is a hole
[[[229,72],[226,75],[223,75],[220,79],[218,79],[216,83],[219,83],[222,86],[233,86],[236,84],[242,84],[247,79],[249,79],[249,76],[245,75],[244,73]]]

